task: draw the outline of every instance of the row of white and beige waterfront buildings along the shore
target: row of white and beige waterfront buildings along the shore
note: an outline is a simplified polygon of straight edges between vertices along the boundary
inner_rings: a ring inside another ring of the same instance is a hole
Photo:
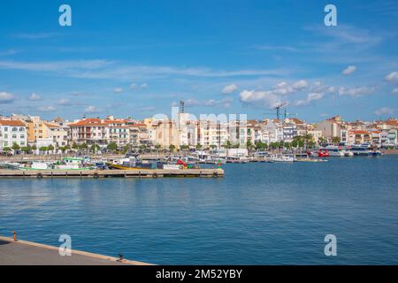
[[[189,119],[180,112],[177,119],[82,118],[73,121],[42,120],[37,116],[0,116],[0,150],[34,147],[55,152],[73,145],[93,145],[99,149],[110,143],[118,147],[162,147],[220,149],[245,148],[263,142],[293,142],[310,136],[310,142],[369,142],[380,146],[397,145],[398,121],[345,122],[340,116],[317,124],[300,119],[224,120]]]

